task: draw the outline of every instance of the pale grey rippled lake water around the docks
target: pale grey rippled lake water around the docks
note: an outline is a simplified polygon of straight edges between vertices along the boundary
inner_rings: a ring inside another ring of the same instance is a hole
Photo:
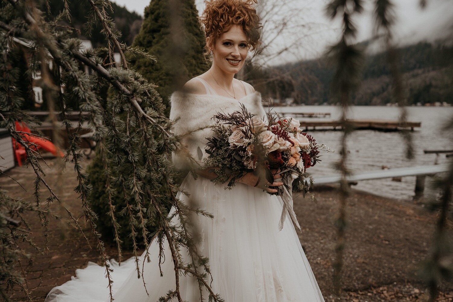
[[[316,120],[334,120],[340,117],[340,108],[336,106],[294,106],[274,107],[276,112],[330,112],[327,118]],[[453,133],[440,130],[443,123],[453,118],[453,107],[407,107],[410,122],[421,122],[421,127],[411,132],[414,145],[414,158],[405,158],[405,143],[400,132],[382,132],[374,130],[357,130],[348,136],[347,147],[348,167],[352,172],[366,172],[381,170],[382,166],[389,169],[433,165],[435,154],[424,154],[425,149],[453,150]],[[400,109],[398,107],[385,106],[352,106],[348,114],[351,119],[383,119],[398,120]],[[308,118],[300,118],[308,119]],[[311,120],[311,119],[310,119]],[[339,159],[339,144],[342,136],[341,131],[323,130],[309,131],[317,142],[325,143],[334,153],[323,152],[322,162],[311,167],[308,171],[315,178],[321,175],[333,175],[338,172],[333,168],[333,163]],[[448,159],[445,155],[439,156],[439,163],[445,163]],[[426,193],[432,182],[427,178]],[[389,178],[378,180],[363,180],[354,186],[355,189],[364,190],[372,194],[400,200],[413,200],[415,177],[403,177],[401,182]]]

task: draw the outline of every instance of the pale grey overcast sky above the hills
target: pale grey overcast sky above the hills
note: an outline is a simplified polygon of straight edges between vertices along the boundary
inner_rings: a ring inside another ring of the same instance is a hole
[[[275,1],[275,0],[261,0]],[[276,0],[282,1],[282,0]],[[125,6],[128,10],[134,10],[143,15],[149,0],[114,0],[117,4]],[[297,0],[296,5],[304,8],[300,19],[303,22],[312,24],[309,35],[306,32],[290,33],[275,41],[276,46],[284,45],[289,40],[300,39],[303,41],[303,48],[298,50],[297,58],[287,56],[287,61],[301,58],[313,58],[322,54],[329,44],[336,41],[339,34],[339,20],[332,22],[323,13],[328,0]],[[365,0],[365,12],[356,19],[359,30],[358,41],[369,39],[372,35],[372,6],[375,0]],[[420,40],[429,40],[443,37],[448,31],[452,32],[453,25],[453,1],[452,0],[428,0],[428,6],[422,10],[419,7],[419,0],[394,0],[395,11],[398,16],[395,26],[395,35],[400,44],[415,43]],[[198,11],[203,9],[203,0],[195,0]],[[280,14],[279,14],[280,15]],[[283,14],[284,15],[284,14]],[[299,18],[298,18],[299,19]],[[302,37],[304,35],[304,37]],[[280,58],[279,62],[282,63]]]

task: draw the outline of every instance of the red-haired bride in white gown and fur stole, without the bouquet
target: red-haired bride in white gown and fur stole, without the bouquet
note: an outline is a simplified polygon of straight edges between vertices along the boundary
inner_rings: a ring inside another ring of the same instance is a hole
[[[253,8],[255,0],[210,0],[201,21],[206,32],[207,53],[212,66],[198,77],[189,80],[180,92],[171,97],[170,119],[175,134],[183,134],[209,126],[216,112],[234,112],[239,105],[249,112],[264,116],[260,93],[243,81],[234,78],[245,63],[250,48],[260,42],[259,17]],[[188,150],[196,160],[206,156],[203,151],[209,128],[186,136]],[[198,155],[198,156],[197,156]],[[174,156],[175,165],[181,158]],[[214,218],[197,216],[193,224],[198,230],[198,252],[209,258],[211,288],[226,302],[318,302],[324,301],[318,283],[300,245],[291,219],[283,229],[278,223],[283,202],[268,186],[283,185],[260,182],[252,173],[245,175],[232,190],[210,181],[216,175],[200,170],[196,180],[189,174],[183,181],[178,198],[183,202],[196,200],[198,207]],[[278,178],[279,175],[275,175]],[[256,186],[255,186],[256,185]],[[176,222],[175,222],[176,223]],[[169,290],[174,290],[175,275],[171,254],[159,271],[159,245],[149,246],[151,261],[143,264],[143,278],[137,278],[134,258],[118,265],[111,261],[113,298],[117,302],[155,302]],[[143,262],[145,253],[140,257]],[[105,269],[95,263],[77,269],[76,277],[53,288],[46,302],[109,301]],[[144,286],[146,284],[146,288]],[[184,301],[200,301],[195,278],[182,275],[179,286]],[[207,294],[203,295],[207,299]]]

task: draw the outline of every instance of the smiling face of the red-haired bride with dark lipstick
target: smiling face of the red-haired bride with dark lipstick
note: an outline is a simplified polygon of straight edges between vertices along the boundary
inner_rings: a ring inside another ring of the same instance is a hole
[[[213,64],[225,73],[238,73],[246,61],[247,37],[239,25],[231,25],[212,46]]]

